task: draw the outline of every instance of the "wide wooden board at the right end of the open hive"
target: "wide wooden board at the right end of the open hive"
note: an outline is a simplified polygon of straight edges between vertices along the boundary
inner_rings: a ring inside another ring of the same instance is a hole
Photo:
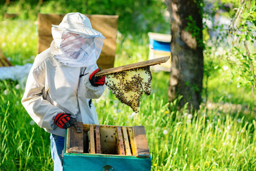
[[[137,148],[137,157],[150,157],[144,126],[134,126],[133,134],[136,144],[135,148]]]

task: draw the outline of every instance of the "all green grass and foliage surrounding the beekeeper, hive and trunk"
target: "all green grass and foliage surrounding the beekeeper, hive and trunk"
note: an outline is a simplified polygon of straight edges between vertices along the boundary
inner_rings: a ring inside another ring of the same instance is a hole
[[[115,66],[147,60],[147,32],[170,30],[169,19],[164,17],[166,6],[160,0],[96,0],[88,1],[88,8],[86,1],[81,0],[6,2],[0,2],[0,48],[15,65],[34,61],[38,40],[34,21],[38,12],[119,15]],[[234,9],[242,9],[238,1],[222,2],[232,2]],[[199,111],[191,113],[186,105],[178,110],[180,98],[168,103],[169,73],[165,72],[152,73],[152,94],[141,97],[137,114],[109,91],[94,100],[100,124],[145,126],[152,170],[256,170],[256,122],[251,98],[254,79],[248,79],[255,65],[251,42],[255,36],[253,27],[247,27],[255,19],[255,1],[247,2],[238,20],[241,24],[237,28],[243,29],[242,34],[239,29],[230,33],[218,25],[204,28],[205,91]],[[205,18],[211,18],[220,9],[219,3],[214,4]],[[224,15],[235,18],[236,11]],[[3,20],[3,13],[20,15]],[[209,32],[216,30],[220,30],[219,34],[211,38]],[[237,37],[237,42],[231,41],[237,49],[225,42],[227,36]],[[252,60],[241,44],[245,40],[250,42]],[[52,170],[49,134],[23,108],[23,91],[16,81],[0,81],[0,170]]]

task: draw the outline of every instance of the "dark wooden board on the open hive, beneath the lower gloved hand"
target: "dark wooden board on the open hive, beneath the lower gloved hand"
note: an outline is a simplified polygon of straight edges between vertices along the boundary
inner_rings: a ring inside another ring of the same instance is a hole
[[[78,122],[77,124],[81,129],[83,128],[82,122]],[[77,133],[74,125],[72,125],[69,129],[70,142],[68,143],[68,153],[83,153],[83,133]]]

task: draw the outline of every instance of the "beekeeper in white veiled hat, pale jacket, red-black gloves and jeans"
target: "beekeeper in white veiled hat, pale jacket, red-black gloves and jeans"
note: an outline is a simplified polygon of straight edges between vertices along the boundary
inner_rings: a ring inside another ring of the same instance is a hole
[[[54,170],[62,170],[65,129],[74,121],[99,124],[91,99],[105,89],[105,76],[96,78],[104,36],[80,13],[65,15],[52,25],[50,48],[36,56],[22,104],[39,127],[51,133]]]

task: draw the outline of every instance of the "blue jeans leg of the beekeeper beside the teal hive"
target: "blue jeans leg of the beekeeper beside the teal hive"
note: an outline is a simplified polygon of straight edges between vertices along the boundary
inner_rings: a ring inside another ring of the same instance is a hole
[[[62,171],[62,150],[64,137],[51,134],[51,157],[54,161],[54,171]]]

